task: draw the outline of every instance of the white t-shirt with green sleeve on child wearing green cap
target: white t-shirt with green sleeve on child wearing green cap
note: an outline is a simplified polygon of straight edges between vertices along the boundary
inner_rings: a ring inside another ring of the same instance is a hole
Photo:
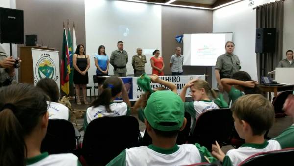
[[[193,144],[175,145],[168,150],[149,145],[123,150],[106,166],[185,166],[200,162],[201,154]]]

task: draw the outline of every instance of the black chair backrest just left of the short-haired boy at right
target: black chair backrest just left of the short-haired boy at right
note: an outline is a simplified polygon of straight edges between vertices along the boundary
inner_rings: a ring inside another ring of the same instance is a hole
[[[214,109],[203,112],[196,121],[189,143],[199,143],[211,151],[215,141],[222,146],[228,142],[234,126],[230,109]]]

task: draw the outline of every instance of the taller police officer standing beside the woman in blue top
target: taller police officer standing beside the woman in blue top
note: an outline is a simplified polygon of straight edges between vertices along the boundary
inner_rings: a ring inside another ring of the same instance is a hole
[[[123,42],[118,42],[118,49],[113,51],[109,63],[113,66],[113,74],[118,77],[126,77],[127,52],[123,50]]]

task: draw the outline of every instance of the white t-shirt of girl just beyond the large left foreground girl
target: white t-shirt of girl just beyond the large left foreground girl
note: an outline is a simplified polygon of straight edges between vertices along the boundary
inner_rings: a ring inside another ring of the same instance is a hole
[[[47,101],[49,119],[69,120],[69,108],[61,103]]]

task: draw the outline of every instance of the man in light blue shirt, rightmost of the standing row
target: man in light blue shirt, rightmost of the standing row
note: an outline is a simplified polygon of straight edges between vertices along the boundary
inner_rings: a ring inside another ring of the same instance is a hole
[[[172,75],[182,75],[184,56],[181,55],[180,47],[176,47],[175,51],[176,54],[172,55],[170,60],[170,68],[172,69]]]

